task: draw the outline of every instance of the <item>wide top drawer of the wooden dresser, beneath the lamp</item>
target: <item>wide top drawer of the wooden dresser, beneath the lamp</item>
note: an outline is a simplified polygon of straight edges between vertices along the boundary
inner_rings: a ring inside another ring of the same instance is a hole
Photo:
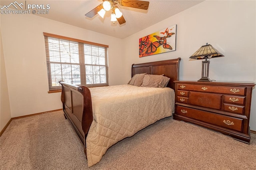
[[[224,87],[224,86],[211,86],[211,85],[192,85],[178,83],[178,89],[180,90],[192,90],[192,91],[206,91],[211,93],[225,93],[232,95],[245,95],[246,87]]]

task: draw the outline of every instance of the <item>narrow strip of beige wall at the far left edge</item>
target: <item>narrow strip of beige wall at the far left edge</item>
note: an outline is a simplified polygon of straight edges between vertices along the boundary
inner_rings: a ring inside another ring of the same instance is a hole
[[[2,34],[0,30],[0,131],[11,119],[9,94],[7,87],[6,71],[4,65],[4,51],[2,46]]]

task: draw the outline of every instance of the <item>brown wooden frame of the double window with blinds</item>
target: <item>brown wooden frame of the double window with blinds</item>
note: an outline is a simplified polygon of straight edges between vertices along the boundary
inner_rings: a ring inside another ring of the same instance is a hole
[[[48,72],[48,93],[57,93],[61,92],[61,86],[52,86],[52,73],[50,64],[51,63],[59,63],[59,64],[76,64],[80,65],[80,81],[81,85],[85,85],[87,87],[102,87],[102,86],[108,86],[108,45],[100,44],[100,43],[94,43],[94,42],[88,42],[84,40],[79,40],[75,38],[69,38],[65,36],[59,36],[56,34],[50,34],[50,33],[43,33],[44,39],[45,39],[45,49],[46,49],[46,62],[47,62],[47,72]],[[78,53],[79,53],[79,63],[65,63],[65,62],[56,62],[56,61],[50,61],[50,54],[49,54],[49,45],[48,45],[48,38],[56,38],[58,40],[66,40],[70,42],[76,42],[78,43]],[[95,83],[95,84],[86,84],[86,65],[95,65],[95,64],[86,64],[85,63],[85,55],[84,55],[84,44],[86,45],[92,45],[96,47],[104,47],[105,49],[105,65],[96,64],[96,66],[104,66],[106,67],[106,83]],[[63,76],[63,74],[62,74]]]

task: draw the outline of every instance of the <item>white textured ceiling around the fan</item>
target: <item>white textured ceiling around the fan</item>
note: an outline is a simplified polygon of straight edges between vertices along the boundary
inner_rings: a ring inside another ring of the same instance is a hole
[[[16,1],[24,2],[24,0]],[[204,0],[148,1],[150,2],[148,10],[119,6],[126,20],[122,25],[110,21],[110,11],[106,12],[104,19],[98,14],[93,18],[85,16],[87,12],[101,4],[102,0],[27,0],[26,4],[50,4],[49,14],[38,14],[38,16],[123,39]],[[1,6],[10,2],[15,0],[1,0]]]

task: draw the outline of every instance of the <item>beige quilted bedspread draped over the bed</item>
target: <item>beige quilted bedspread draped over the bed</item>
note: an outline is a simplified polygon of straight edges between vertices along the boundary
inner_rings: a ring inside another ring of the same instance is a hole
[[[174,113],[170,88],[116,85],[90,88],[93,121],[86,138],[88,166],[116,142]]]

